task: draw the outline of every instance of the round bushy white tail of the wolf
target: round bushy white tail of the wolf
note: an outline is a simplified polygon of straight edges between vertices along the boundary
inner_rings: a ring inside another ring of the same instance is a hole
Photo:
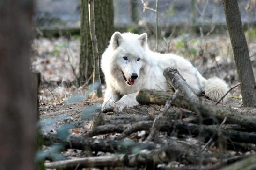
[[[212,101],[217,102],[229,90],[227,83],[217,77],[212,77],[204,83],[205,96],[209,97]],[[228,96],[226,95],[221,103],[227,103]]]

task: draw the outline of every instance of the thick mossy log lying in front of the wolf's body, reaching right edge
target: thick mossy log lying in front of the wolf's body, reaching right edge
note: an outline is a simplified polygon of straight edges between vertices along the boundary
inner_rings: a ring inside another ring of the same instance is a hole
[[[137,95],[137,101],[140,104],[158,104],[164,105],[166,101],[173,95],[172,92],[164,92],[157,90],[140,90]],[[256,130],[256,116],[244,116],[236,110],[231,110],[225,106],[215,105],[214,102],[205,98],[200,98],[199,101],[191,103],[189,99],[178,96],[173,102],[173,106],[181,107],[194,111],[203,116],[214,116],[220,122],[227,117],[227,123],[238,124],[246,128],[248,131]]]

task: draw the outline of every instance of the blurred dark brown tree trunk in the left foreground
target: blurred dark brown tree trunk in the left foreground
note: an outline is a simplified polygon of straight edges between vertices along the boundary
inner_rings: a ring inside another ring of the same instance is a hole
[[[0,3],[0,169],[34,170],[37,100],[32,95],[32,0]]]

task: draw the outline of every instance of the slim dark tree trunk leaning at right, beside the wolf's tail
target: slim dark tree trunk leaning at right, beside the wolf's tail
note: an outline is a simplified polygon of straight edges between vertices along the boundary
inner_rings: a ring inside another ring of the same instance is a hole
[[[256,84],[237,0],[223,0],[227,28],[241,84],[243,105],[256,107]]]

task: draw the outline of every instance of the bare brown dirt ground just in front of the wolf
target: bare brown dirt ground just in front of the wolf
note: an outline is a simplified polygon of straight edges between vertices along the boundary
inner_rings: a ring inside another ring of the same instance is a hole
[[[163,106],[158,105],[140,105],[133,109],[124,109],[123,112],[102,113],[100,109],[95,109],[89,115],[85,115],[86,110],[92,107],[100,108],[103,103],[103,98],[80,100],[72,103],[64,103],[58,105],[40,106],[40,122],[42,123],[43,131],[49,133],[56,131],[61,126],[69,124],[72,128],[91,129],[98,114],[102,115],[103,120],[111,120],[117,118],[131,118],[137,116],[148,116],[149,114],[157,113],[163,109]],[[243,108],[242,101],[235,98],[229,98],[227,108],[236,109],[244,115],[255,115],[255,108]],[[172,107],[170,110],[176,112],[178,108]]]

